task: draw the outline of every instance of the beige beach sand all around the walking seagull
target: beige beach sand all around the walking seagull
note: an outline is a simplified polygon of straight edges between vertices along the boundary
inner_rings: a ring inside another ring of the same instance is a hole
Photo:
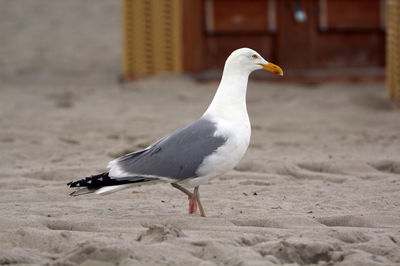
[[[399,265],[400,111],[382,83],[251,81],[252,139],[200,187],[66,183],[202,115],[217,83],[116,83],[120,1],[0,0],[0,264]]]

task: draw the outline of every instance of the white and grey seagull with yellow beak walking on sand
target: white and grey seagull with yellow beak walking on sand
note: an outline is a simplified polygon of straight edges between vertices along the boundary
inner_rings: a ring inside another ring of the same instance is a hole
[[[264,69],[283,75],[282,69],[249,48],[237,49],[225,62],[218,90],[200,119],[161,138],[149,147],[108,163],[108,172],[68,183],[78,188],[70,195],[108,194],[151,181],[164,181],[189,199],[189,213],[201,216],[199,186],[220,176],[242,159],[250,142],[246,107],[250,73]],[[194,188],[193,192],[189,188]]]

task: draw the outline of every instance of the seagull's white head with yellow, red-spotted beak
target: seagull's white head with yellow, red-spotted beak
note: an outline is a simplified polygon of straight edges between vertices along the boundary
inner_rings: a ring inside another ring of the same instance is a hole
[[[279,66],[268,62],[259,53],[249,48],[240,48],[233,51],[226,60],[225,68],[227,67],[239,71],[247,71],[249,74],[254,70],[264,69],[283,76],[283,71]]]

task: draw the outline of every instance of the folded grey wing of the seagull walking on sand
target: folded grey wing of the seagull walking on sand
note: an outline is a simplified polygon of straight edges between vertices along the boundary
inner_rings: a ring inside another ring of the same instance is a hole
[[[226,142],[225,138],[214,136],[215,131],[214,122],[201,118],[147,149],[118,158],[116,166],[132,176],[154,175],[176,180],[196,177],[204,158]]]

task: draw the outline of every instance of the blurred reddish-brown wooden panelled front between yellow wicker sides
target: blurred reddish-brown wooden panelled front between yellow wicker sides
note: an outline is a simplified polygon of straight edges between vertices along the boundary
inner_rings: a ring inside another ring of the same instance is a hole
[[[191,9],[193,2],[198,6]],[[250,46],[282,65],[288,78],[384,74],[384,0],[193,2],[183,7],[183,30],[190,32],[184,37],[191,37],[184,43],[203,54],[195,62],[184,61],[185,70],[219,70],[229,51]],[[185,58],[191,50],[185,50]]]

